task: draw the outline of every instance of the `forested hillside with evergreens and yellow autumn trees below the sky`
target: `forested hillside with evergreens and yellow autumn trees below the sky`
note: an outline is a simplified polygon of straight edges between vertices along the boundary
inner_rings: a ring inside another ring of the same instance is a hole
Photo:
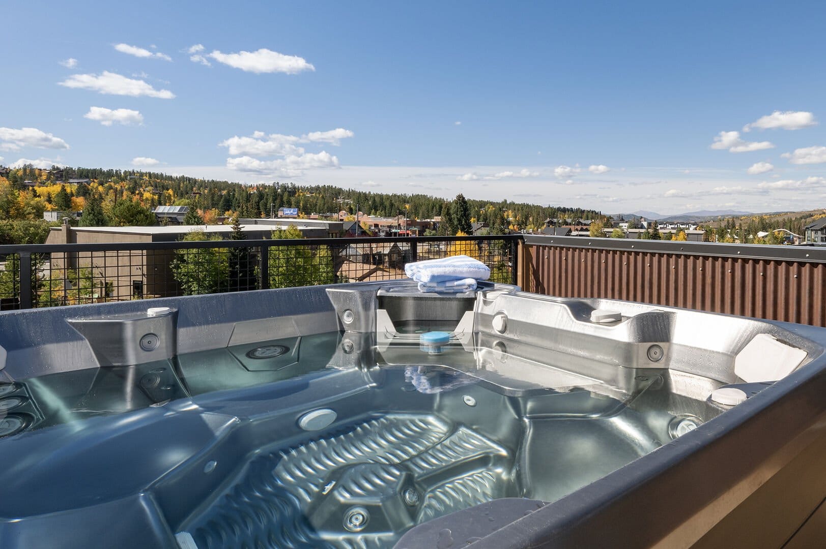
[[[0,172],[2,173],[2,172]],[[69,179],[89,179],[78,184],[59,184]],[[155,206],[194,206],[198,222],[214,223],[219,217],[261,217],[281,207],[298,208],[301,215],[354,213],[409,215],[413,219],[449,216],[451,201],[420,194],[385,194],[343,189],[329,185],[299,186],[273,182],[245,186],[240,183],[171,176],[164,173],[101,168],[42,170],[31,166],[12,169],[0,176],[0,243],[31,243],[45,238],[48,224],[43,212],[83,211],[80,225],[151,225]],[[541,229],[550,217],[594,219],[599,212],[539,206],[524,202],[481,201],[468,198],[472,220],[487,220],[501,213],[510,230]],[[193,211],[193,214],[195,212]],[[194,219],[194,218],[193,218]],[[21,223],[25,221],[26,223]],[[25,231],[24,231],[25,228]],[[34,228],[34,229],[33,229]],[[38,230],[39,229],[39,230]],[[23,234],[25,233],[25,234]]]

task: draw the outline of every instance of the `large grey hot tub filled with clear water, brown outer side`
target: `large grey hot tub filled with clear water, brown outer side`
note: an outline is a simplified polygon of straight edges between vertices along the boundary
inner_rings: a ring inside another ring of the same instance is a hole
[[[5,313],[0,547],[780,547],[824,342],[494,284]]]

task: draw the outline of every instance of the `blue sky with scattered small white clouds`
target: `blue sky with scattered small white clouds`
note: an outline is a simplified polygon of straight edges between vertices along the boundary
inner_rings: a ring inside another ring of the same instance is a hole
[[[809,209],[826,205],[824,16],[823,2],[6,2],[0,162],[610,212]]]

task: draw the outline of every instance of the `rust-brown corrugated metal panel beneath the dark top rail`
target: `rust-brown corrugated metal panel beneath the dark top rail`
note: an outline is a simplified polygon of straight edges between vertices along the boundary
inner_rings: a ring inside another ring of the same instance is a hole
[[[826,326],[826,264],[523,244],[527,291]]]

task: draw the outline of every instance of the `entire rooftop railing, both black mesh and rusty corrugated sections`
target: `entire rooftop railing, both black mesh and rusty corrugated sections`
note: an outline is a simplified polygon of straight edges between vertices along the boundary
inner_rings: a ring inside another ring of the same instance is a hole
[[[394,280],[462,253],[526,291],[826,326],[826,248],[521,234],[0,246],[0,308]]]

